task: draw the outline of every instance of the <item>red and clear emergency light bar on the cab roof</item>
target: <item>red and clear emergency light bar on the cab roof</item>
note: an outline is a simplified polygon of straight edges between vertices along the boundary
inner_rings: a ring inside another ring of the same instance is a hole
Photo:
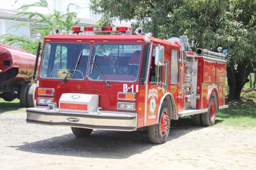
[[[125,32],[130,30],[130,27],[72,27],[74,32]]]

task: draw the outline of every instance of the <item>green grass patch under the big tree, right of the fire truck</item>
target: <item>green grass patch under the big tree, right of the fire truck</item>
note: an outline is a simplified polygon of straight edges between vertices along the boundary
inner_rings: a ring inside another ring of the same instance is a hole
[[[241,101],[227,102],[229,108],[218,110],[216,123],[256,127],[256,92],[242,93]]]

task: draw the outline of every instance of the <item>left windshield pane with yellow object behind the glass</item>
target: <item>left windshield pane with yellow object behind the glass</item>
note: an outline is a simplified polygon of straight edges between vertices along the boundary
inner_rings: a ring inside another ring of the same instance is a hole
[[[73,65],[76,65],[80,53],[76,71],[67,76]],[[89,54],[89,43],[47,43],[44,46],[40,77],[64,79],[67,76],[68,79],[84,79]]]

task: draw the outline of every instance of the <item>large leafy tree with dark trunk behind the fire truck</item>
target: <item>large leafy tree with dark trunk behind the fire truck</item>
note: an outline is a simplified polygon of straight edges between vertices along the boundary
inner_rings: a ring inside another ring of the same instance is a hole
[[[255,0],[91,0],[103,23],[131,21],[154,37],[188,35],[194,48],[227,49],[228,99],[240,99],[247,77],[256,68]],[[217,51],[216,51],[217,52]]]

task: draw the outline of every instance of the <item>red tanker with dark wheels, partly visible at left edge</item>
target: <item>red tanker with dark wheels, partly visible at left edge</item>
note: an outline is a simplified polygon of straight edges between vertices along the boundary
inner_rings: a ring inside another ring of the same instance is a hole
[[[0,43],[0,97],[11,102],[20,99],[20,106],[35,106],[32,74],[35,58],[29,51]]]

